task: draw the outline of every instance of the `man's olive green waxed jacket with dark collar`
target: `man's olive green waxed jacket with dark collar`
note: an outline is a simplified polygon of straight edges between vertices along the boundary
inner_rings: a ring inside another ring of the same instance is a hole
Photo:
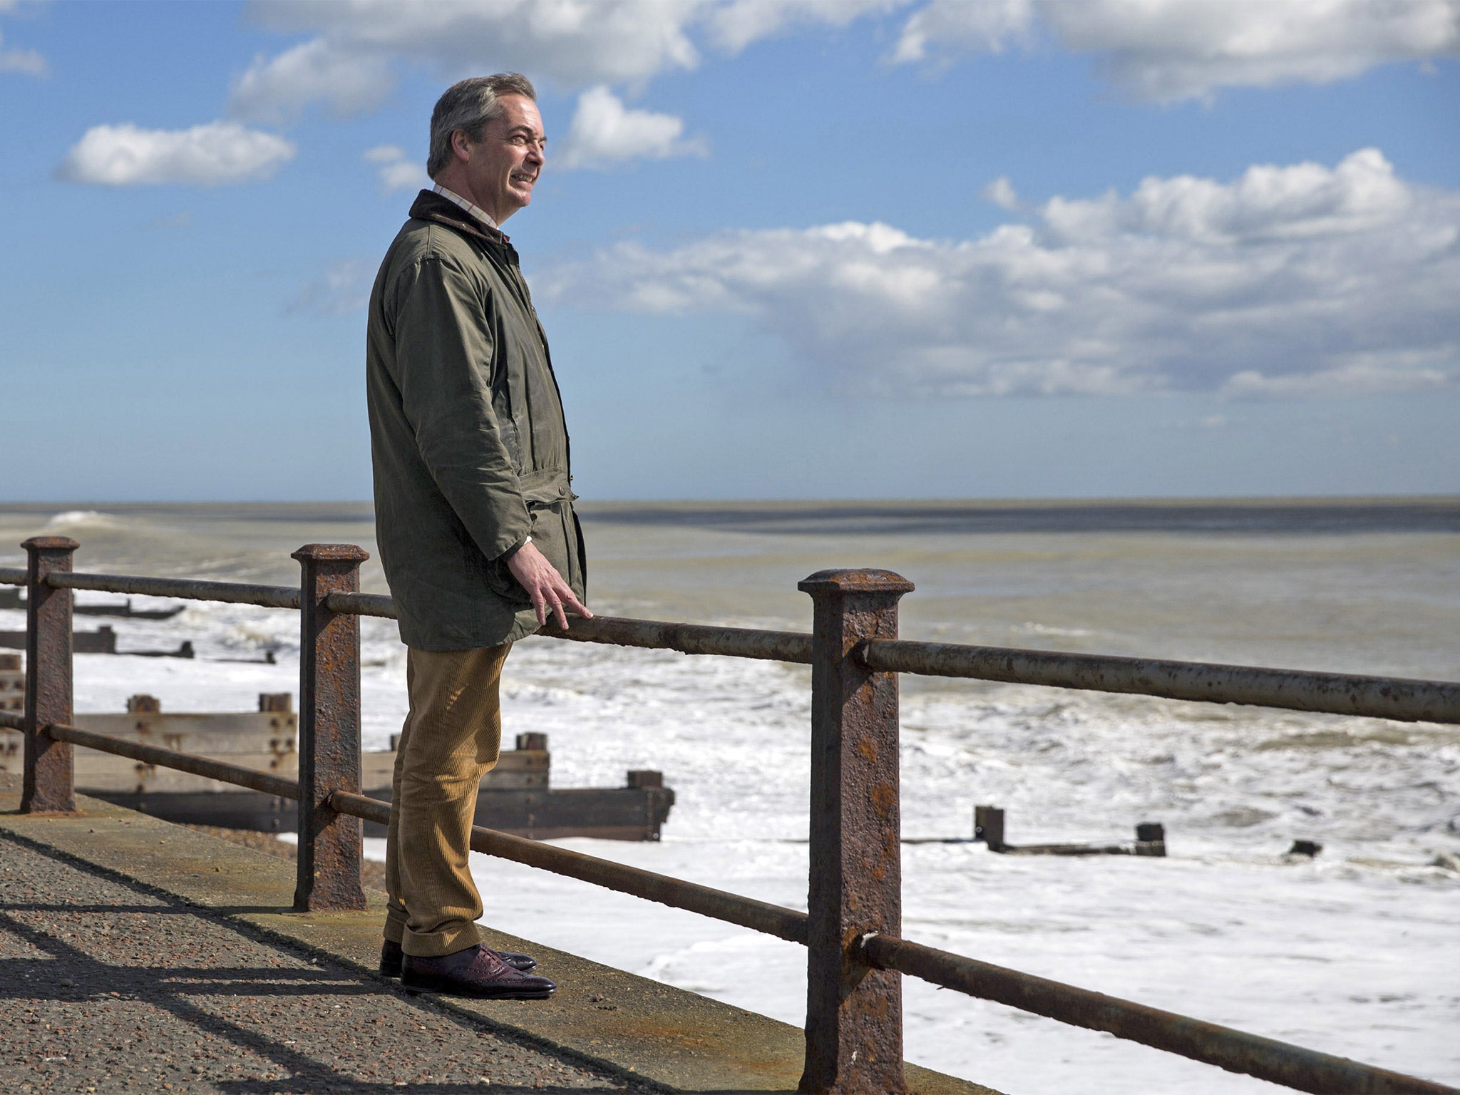
[[[365,384],[375,540],[407,647],[537,631],[507,569],[529,534],[585,596],[568,429],[517,251],[429,190],[375,276]]]

